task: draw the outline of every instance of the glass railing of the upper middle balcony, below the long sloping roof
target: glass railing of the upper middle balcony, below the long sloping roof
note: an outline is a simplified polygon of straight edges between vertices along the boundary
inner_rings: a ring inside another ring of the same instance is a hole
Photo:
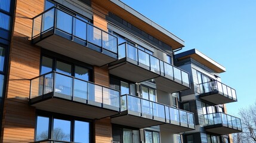
[[[189,86],[189,73],[159,60],[159,58],[156,58],[126,42],[121,43],[118,46],[118,58],[122,59],[125,57],[134,61],[133,63],[140,65],[145,69],[149,69],[156,74],[160,74],[161,76],[174,80],[175,82]]]

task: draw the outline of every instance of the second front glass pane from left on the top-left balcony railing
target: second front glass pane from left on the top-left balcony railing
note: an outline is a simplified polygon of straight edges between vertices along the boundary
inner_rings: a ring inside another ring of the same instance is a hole
[[[87,40],[87,23],[78,18],[74,20],[74,36]]]

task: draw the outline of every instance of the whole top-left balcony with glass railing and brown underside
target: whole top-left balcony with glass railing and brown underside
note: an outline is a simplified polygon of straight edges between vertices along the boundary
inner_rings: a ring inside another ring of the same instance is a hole
[[[33,18],[32,43],[96,66],[118,58],[115,36],[55,7]]]

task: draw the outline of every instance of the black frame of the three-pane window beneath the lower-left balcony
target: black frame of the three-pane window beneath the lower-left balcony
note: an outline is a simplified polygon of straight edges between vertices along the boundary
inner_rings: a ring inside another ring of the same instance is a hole
[[[89,123],[89,143],[94,142],[94,122],[91,119],[84,119],[82,117],[76,117],[76,116],[70,116],[66,114],[59,114],[59,113],[53,113],[49,111],[42,111],[42,110],[36,110],[36,116],[35,116],[35,134],[34,134],[34,141],[36,141],[36,130],[37,130],[37,122],[38,122],[38,116],[41,117],[48,117],[49,118],[49,125],[48,125],[48,139],[53,139],[53,126],[54,126],[54,119],[60,119],[60,120],[69,120],[70,121],[70,142],[74,141],[75,136],[75,121],[81,121],[81,122],[88,122]],[[45,139],[44,139],[45,140]],[[44,141],[41,140],[41,141]],[[39,142],[39,141],[36,141]],[[67,141],[69,142],[69,141]]]

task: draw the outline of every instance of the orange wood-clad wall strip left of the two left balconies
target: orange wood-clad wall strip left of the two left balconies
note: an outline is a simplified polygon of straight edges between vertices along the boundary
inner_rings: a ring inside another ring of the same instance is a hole
[[[42,13],[44,0],[17,0],[11,38],[0,142],[32,142],[35,108],[28,104],[30,80],[39,76],[41,49],[31,44],[32,18]]]

